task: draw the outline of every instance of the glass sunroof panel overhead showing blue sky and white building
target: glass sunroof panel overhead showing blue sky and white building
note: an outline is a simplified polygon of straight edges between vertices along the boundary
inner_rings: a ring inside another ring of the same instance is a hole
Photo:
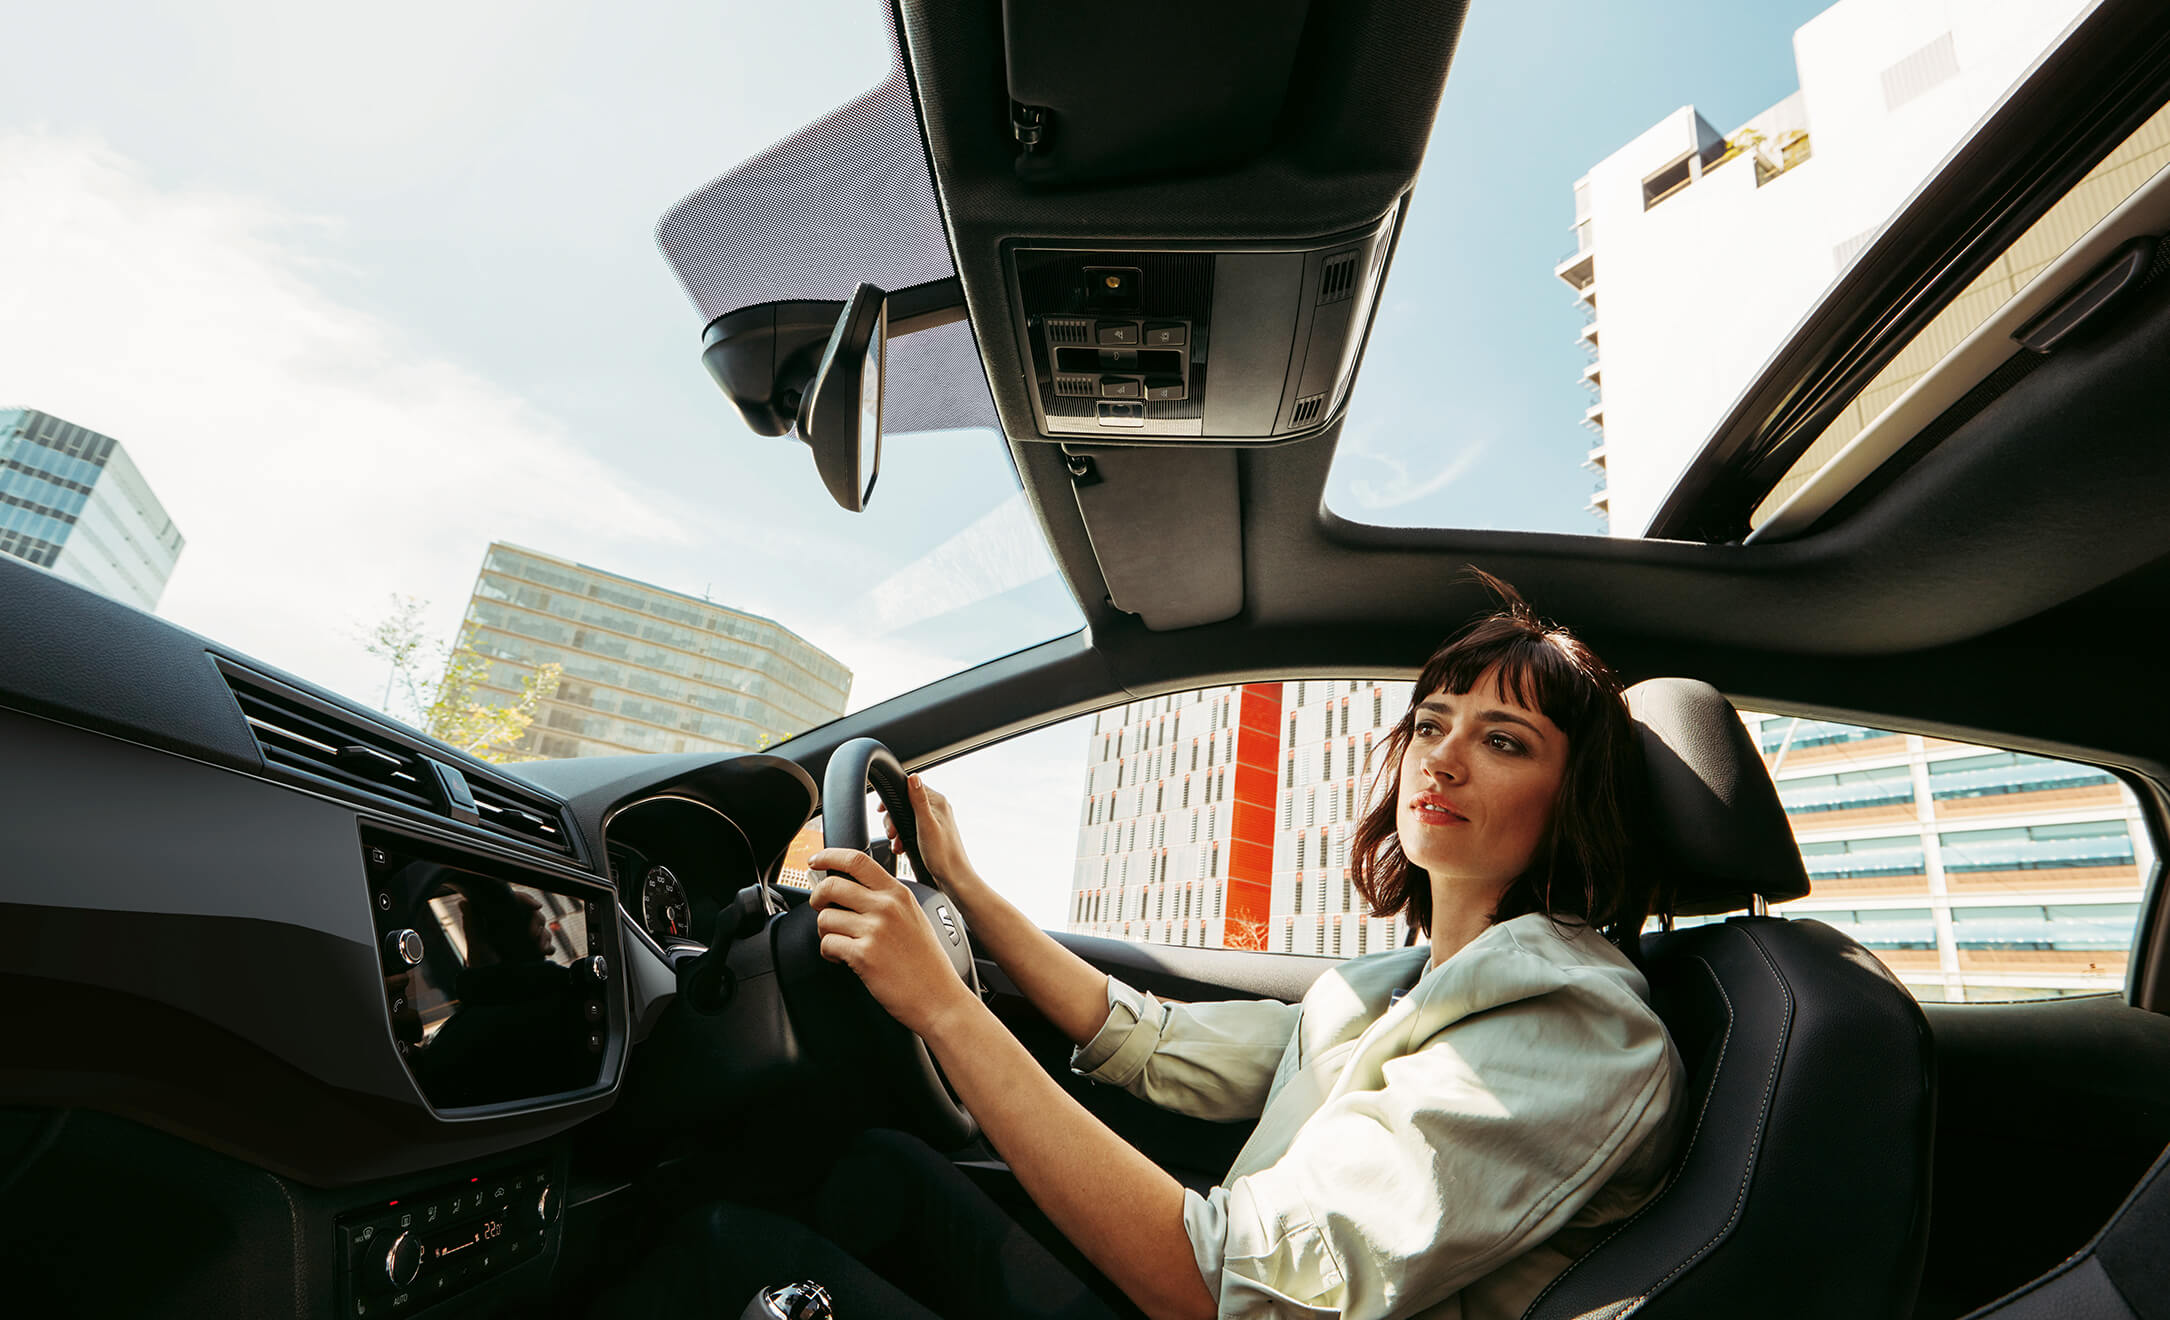
[[[1476,7],[1328,506],[1643,534],[1838,274],[2085,9],[1599,9],[1562,43],[1552,13]],[[1517,132],[1471,132],[1499,122]]]

